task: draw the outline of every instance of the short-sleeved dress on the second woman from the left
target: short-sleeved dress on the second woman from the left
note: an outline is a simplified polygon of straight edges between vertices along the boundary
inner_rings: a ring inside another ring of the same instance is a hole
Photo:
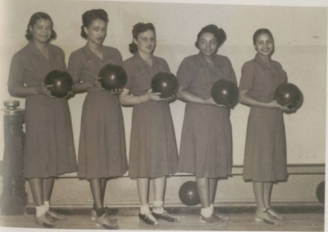
[[[70,55],[68,72],[74,81],[90,81],[109,63],[122,65],[118,49],[102,46],[102,52],[103,60],[85,45]],[[117,177],[127,170],[124,122],[118,96],[91,87],[83,103],[78,177]]]

